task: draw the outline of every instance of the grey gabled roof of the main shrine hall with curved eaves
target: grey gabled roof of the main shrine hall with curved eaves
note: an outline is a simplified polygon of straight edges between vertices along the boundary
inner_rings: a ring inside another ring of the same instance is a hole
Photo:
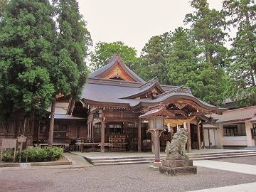
[[[128,80],[111,78],[114,74],[112,70],[117,66],[122,68],[121,78],[127,75]],[[153,93],[156,94],[152,95]],[[150,94],[151,97],[147,97]],[[114,55],[110,63],[89,75],[82,90],[81,100],[92,107],[125,107],[133,110],[157,105],[160,102],[190,100],[206,111],[222,112],[224,110],[194,97],[189,88],[161,85],[155,78],[145,82],[124,65],[119,55]]]

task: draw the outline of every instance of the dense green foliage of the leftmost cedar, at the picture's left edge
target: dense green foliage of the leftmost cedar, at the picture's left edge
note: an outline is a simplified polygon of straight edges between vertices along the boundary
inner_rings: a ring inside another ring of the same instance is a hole
[[[53,7],[48,1],[13,0],[0,20],[0,112],[33,114],[50,105],[57,63]]]

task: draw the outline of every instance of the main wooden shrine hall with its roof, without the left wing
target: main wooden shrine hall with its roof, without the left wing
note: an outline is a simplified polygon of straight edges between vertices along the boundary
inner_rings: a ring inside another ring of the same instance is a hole
[[[171,140],[177,125],[186,122],[188,151],[201,149],[203,124],[210,122],[206,114],[221,114],[225,110],[194,97],[189,88],[161,85],[155,78],[145,82],[127,68],[118,54],[88,76],[80,102],[87,108],[87,131],[83,137],[87,142],[99,142],[102,152],[106,146],[110,151],[150,150],[148,119],[139,116],[160,103],[174,114],[165,119],[165,127],[171,125],[171,132],[161,134],[161,145]]]

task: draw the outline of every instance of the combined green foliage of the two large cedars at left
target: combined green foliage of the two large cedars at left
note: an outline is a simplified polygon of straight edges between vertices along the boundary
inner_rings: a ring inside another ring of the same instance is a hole
[[[0,114],[41,115],[59,93],[78,97],[91,42],[78,2],[13,0],[1,13]]]

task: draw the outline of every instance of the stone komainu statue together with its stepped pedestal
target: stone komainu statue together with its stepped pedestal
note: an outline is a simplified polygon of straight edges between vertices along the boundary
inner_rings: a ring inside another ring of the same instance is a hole
[[[178,128],[174,134],[171,143],[166,144],[166,159],[162,161],[162,166],[159,167],[161,174],[175,176],[176,174],[196,174],[197,168],[193,166],[193,160],[188,159],[185,154],[185,146],[188,139],[188,130],[186,123],[183,128]]]

